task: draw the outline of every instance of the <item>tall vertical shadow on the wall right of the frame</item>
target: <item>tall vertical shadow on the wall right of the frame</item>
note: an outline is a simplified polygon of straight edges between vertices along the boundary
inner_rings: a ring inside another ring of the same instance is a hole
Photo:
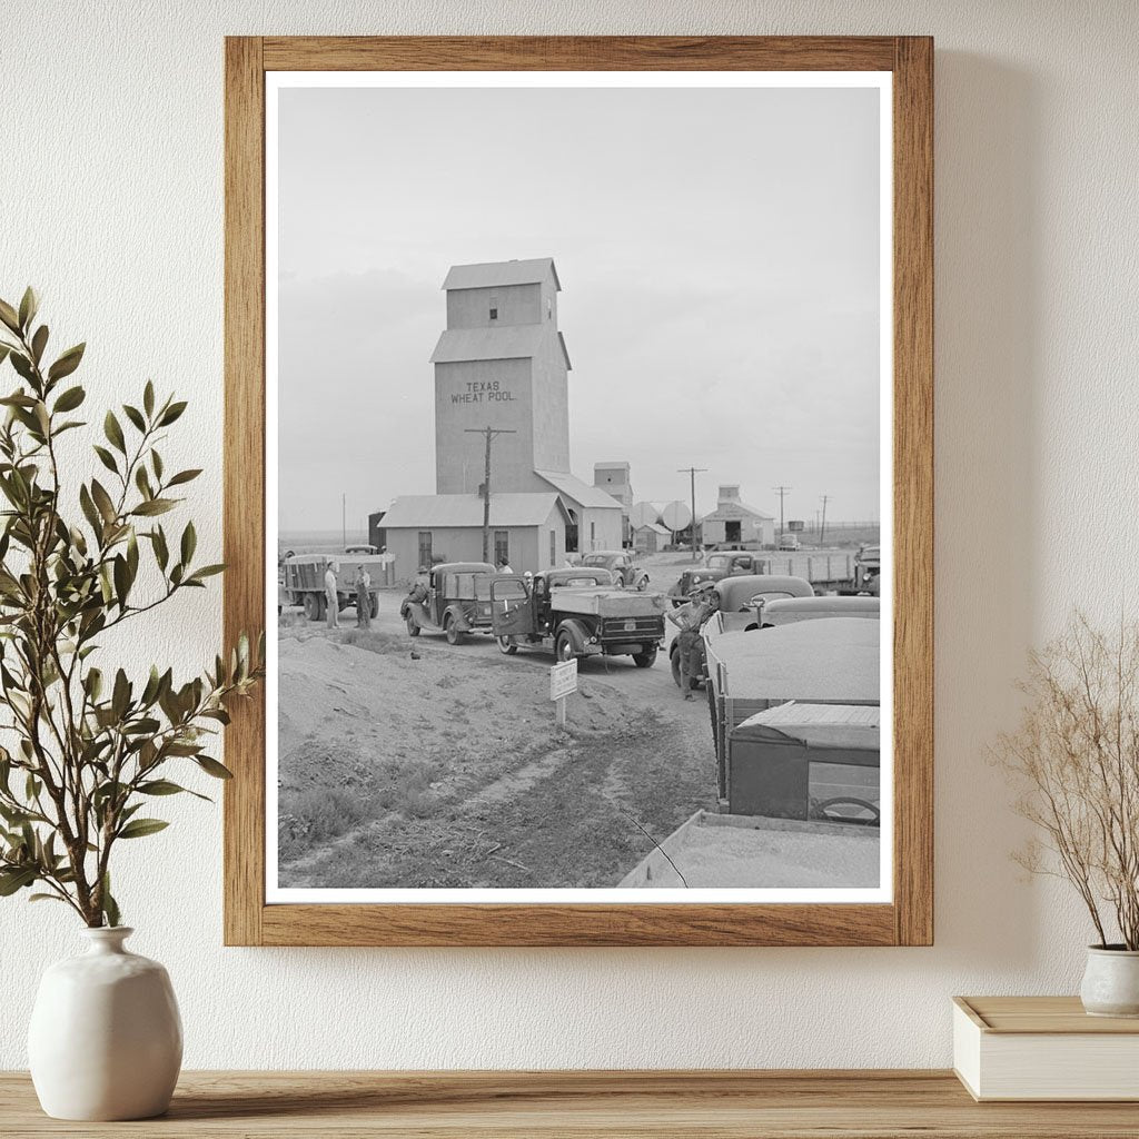
[[[1039,90],[982,56],[936,68],[935,939],[965,967],[1027,969],[1039,892],[988,748],[1036,629]]]

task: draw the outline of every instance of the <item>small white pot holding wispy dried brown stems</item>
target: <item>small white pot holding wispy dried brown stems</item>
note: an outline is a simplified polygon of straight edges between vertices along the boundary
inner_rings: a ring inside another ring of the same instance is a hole
[[[1043,833],[1014,857],[1080,894],[1098,941],[1080,989],[1092,1016],[1139,1017],[1139,623],[1105,633],[1076,615],[1030,654],[1016,731],[998,762]]]

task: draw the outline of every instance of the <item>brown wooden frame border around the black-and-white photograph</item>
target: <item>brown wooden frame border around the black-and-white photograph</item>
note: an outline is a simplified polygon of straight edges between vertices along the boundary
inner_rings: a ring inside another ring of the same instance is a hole
[[[273,38],[226,41],[224,636],[267,623],[265,73],[893,73],[893,901],[267,904],[263,698],[226,761],[230,945],[928,945],[933,941],[933,41],[870,38]],[[884,318],[885,319],[885,318]]]

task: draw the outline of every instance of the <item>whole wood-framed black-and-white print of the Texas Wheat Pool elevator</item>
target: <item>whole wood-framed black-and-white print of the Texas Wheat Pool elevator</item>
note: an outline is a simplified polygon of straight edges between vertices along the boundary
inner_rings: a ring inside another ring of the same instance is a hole
[[[933,939],[933,42],[230,39],[226,940]]]

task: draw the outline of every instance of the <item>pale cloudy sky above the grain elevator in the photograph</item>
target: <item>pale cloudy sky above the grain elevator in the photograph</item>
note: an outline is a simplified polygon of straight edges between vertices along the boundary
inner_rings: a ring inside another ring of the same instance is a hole
[[[452,264],[552,256],[571,462],[878,516],[870,89],[290,89],[280,98],[280,527],[433,493]]]

